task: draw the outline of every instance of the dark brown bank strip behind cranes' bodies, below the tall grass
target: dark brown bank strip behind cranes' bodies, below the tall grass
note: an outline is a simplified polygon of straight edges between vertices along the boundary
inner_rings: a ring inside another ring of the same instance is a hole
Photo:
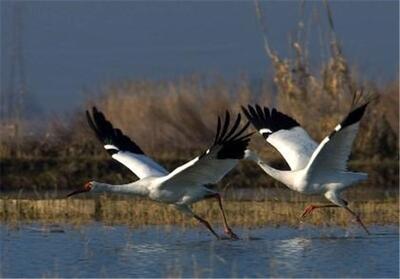
[[[265,147],[264,147],[265,148]],[[267,149],[267,148],[265,148]],[[99,150],[103,153],[103,150]],[[104,152],[105,153],[105,152]],[[188,155],[189,156],[189,155]],[[173,170],[185,163],[187,159],[155,157],[168,170]],[[272,159],[268,162],[277,168],[285,168],[282,159]],[[22,197],[44,197],[41,190],[50,195],[57,195],[66,189],[76,188],[89,180],[107,183],[123,184],[136,180],[127,168],[106,156],[100,158],[37,158],[3,159],[1,190],[4,192],[18,191]],[[352,161],[350,169],[368,173],[368,181],[354,187],[360,191],[378,189],[397,189],[399,185],[398,161],[370,160]],[[23,173],[23,175],[21,175]],[[236,190],[241,188],[256,189],[259,187],[285,189],[286,187],[266,175],[253,162],[242,161],[218,186],[222,189]]]

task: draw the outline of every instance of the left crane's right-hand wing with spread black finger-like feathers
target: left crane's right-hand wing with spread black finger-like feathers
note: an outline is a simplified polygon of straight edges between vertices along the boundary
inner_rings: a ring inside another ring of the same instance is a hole
[[[239,159],[243,158],[250,141],[251,133],[243,134],[249,123],[239,129],[240,120],[239,113],[235,123],[229,128],[229,112],[225,114],[223,126],[218,117],[217,134],[213,145],[202,155],[172,171],[161,188],[213,184],[224,177]]]

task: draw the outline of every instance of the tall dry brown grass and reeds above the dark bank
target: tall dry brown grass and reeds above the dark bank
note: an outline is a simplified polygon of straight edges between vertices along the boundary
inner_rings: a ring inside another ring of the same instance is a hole
[[[255,3],[264,47],[274,70],[273,77],[266,77],[261,85],[256,86],[246,78],[226,81],[218,76],[199,75],[168,81],[127,80],[89,92],[84,109],[98,106],[153,156],[186,159],[211,142],[217,115],[227,109],[238,112],[241,105],[248,103],[276,106],[295,117],[318,141],[352,108],[371,101],[356,140],[355,157],[397,159],[398,81],[377,87],[373,82],[356,78],[336,34],[328,2],[319,17],[327,21],[321,28],[326,26],[328,37],[320,42],[320,48],[329,52],[319,65],[310,62],[311,42],[305,26],[312,18],[304,16],[304,6],[309,3],[302,2],[298,30],[290,39],[293,50],[290,57],[282,57],[271,46],[263,13],[263,6],[268,3]],[[271,90],[271,82],[276,90]],[[259,137],[253,138],[253,146],[266,156],[278,157],[272,149],[265,148]],[[54,118],[44,139],[27,140],[22,148],[25,155],[34,157],[103,154],[88,128],[83,109],[75,111],[67,121]],[[2,146],[0,154],[6,154],[5,149]]]

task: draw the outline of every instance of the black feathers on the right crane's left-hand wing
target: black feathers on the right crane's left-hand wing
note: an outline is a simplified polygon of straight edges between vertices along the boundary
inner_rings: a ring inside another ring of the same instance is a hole
[[[289,130],[293,127],[300,126],[295,119],[277,111],[275,108],[269,110],[267,107],[262,109],[259,105],[256,105],[255,108],[248,105],[247,109],[242,106],[242,110],[247,119],[258,131],[261,129],[269,130],[261,132],[265,139],[279,130]]]

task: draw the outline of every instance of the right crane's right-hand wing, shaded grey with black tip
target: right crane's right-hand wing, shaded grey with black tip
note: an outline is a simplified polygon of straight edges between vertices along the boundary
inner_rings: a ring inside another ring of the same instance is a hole
[[[351,147],[367,105],[368,103],[351,111],[335,130],[322,140],[307,165],[309,177],[324,173],[324,170],[346,171]]]

